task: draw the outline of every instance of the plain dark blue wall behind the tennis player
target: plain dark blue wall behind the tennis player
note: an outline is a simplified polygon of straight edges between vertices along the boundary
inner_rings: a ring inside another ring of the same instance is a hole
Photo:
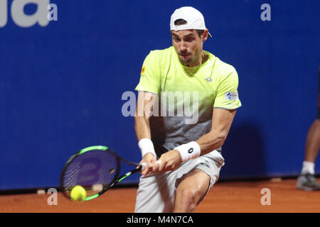
[[[9,12],[0,28],[0,189],[58,187],[64,162],[89,145],[139,162],[122,94],[134,91],[149,51],[171,45],[171,13],[187,5],[203,13],[213,35],[204,49],[240,79],[242,107],[223,147],[221,177],[299,174],[316,116],[319,1],[51,3],[58,21],[46,27],[20,28]],[[264,3],[271,21],[260,19]]]

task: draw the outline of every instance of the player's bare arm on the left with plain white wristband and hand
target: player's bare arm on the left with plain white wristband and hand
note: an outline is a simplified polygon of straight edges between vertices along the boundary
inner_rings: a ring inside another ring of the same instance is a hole
[[[137,108],[134,115],[134,129],[136,131],[139,148],[142,150],[142,162],[146,162],[146,167],[142,175],[147,175],[153,171],[152,163],[156,162],[156,154],[151,142],[150,116],[156,104],[158,96],[151,92],[139,92]],[[156,166],[156,165],[155,165]]]

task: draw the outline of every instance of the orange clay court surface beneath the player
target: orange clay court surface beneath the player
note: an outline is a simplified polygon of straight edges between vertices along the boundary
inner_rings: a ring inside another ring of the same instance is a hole
[[[319,180],[319,179],[318,179]],[[254,182],[218,182],[196,209],[197,213],[319,213],[320,192],[295,189],[296,179]],[[261,190],[270,189],[270,205],[263,206]],[[2,213],[132,213],[137,188],[110,189],[98,199],[72,202],[58,193],[58,205],[49,206],[50,194],[0,196]]]

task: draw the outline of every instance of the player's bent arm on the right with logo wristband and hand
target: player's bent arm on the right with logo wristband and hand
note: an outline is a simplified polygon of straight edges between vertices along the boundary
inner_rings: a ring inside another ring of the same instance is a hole
[[[212,120],[212,130],[201,136],[201,138],[198,138],[195,142],[182,145],[179,149],[180,151],[176,149],[169,150],[167,153],[164,153],[164,155],[161,155],[159,158],[161,164],[159,168],[155,169],[155,172],[175,170],[181,165],[183,160],[188,158],[188,155],[193,155],[193,158],[195,158],[220,148],[223,143],[225,143],[225,139],[227,138],[231,124],[233,123],[233,118],[235,117],[235,112],[236,109],[213,109],[214,117]],[[198,154],[194,155],[197,152]],[[183,153],[186,153],[187,157],[183,157]]]

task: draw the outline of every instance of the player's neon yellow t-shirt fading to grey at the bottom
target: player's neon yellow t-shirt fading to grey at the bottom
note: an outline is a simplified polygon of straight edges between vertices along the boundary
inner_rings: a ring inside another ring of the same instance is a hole
[[[182,65],[172,46],[153,50],[144,60],[136,90],[158,94],[160,99],[159,114],[150,118],[151,140],[157,156],[208,133],[212,126],[213,108],[237,109],[241,106],[235,68],[210,52],[206,51],[206,54],[208,60],[196,67]],[[167,95],[170,93],[177,100],[174,115],[170,113],[172,104],[170,106],[166,101],[170,99]],[[210,153],[207,155],[210,157]],[[215,160],[223,162],[223,157],[219,158],[215,157]]]

